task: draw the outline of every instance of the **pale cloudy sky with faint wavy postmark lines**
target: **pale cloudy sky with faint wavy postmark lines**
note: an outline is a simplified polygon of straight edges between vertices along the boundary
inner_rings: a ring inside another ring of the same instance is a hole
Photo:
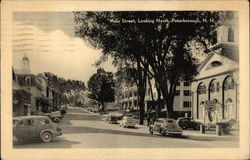
[[[34,74],[51,72],[87,83],[102,55],[74,36],[72,12],[15,12],[13,14],[13,67],[21,68],[26,54]],[[101,67],[115,72],[111,59]]]

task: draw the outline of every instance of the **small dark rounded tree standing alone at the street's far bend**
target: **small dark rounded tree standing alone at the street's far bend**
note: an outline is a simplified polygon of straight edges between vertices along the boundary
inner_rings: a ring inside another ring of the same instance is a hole
[[[97,73],[89,78],[88,89],[89,98],[98,101],[101,104],[101,110],[104,111],[104,103],[114,101],[113,74],[101,68],[97,69]]]

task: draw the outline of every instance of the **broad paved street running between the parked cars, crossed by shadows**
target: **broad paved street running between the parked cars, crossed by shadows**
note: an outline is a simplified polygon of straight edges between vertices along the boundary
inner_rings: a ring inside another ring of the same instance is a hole
[[[182,137],[150,135],[145,126],[121,128],[107,124],[103,116],[69,108],[58,125],[63,135],[50,143],[30,143],[16,148],[192,148],[238,147],[237,136],[202,135],[199,131],[183,131]]]

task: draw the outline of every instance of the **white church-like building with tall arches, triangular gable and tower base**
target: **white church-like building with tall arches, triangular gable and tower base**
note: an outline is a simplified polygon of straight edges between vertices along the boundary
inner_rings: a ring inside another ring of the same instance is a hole
[[[236,16],[236,15],[235,15]],[[208,122],[206,106],[215,107],[211,123],[239,119],[239,47],[237,17],[217,30],[217,43],[192,82],[192,117]]]

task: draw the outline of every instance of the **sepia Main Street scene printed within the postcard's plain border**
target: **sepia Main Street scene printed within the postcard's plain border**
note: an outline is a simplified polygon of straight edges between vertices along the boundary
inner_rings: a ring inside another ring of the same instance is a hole
[[[241,92],[240,57],[249,53],[240,49],[240,16],[233,9],[12,12],[10,147],[239,149],[240,124],[249,122],[241,117],[249,91]]]

